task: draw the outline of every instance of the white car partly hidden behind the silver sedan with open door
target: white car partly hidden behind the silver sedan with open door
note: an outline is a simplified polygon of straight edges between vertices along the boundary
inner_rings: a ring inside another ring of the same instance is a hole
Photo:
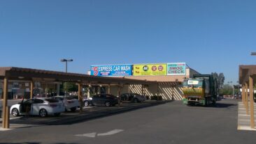
[[[63,102],[65,106],[65,110],[68,111],[76,111],[77,108],[80,107],[78,99],[70,96],[54,96],[52,99],[57,99],[59,102]]]

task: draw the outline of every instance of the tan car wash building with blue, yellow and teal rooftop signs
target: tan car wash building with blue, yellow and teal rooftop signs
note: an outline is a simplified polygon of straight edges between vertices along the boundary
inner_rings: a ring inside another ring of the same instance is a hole
[[[152,84],[122,83],[121,93],[138,93],[154,98],[183,99],[182,82],[199,74],[186,63],[145,63],[129,65],[92,65],[90,75],[99,77],[123,77],[125,79],[155,81]],[[93,86],[98,93],[118,95],[120,85]],[[108,89],[108,90],[107,90]]]

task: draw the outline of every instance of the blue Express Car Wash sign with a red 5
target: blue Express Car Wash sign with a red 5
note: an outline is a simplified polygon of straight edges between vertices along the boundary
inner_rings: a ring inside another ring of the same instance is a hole
[[[91,75],[94,76],[131,76],[132,65],[92,65]]]

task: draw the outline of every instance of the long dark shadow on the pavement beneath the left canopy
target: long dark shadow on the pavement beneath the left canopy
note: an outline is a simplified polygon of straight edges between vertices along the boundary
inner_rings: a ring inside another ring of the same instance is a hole
[[[83,111],[83,113],[79,113],[78,111],[76,111],[76,113],[68,112],[58,117],[49,116],[47,118],[40,118],[38,116],[30,115],[30,116],[24,116],[14,120],[10,120],[10,124],[17,125],[17,127],[14,127],[15,129],[27,128],[27,127],[41,127],[43,125],[71,125],[79,122],[85,122],[88,120],[104,118],[106,116],[117,115],[120,113],[134,111],[137,109],[143,109],[145,107],[157,106],[159,104],[166,104],[167,102],[171,102],[171,101],[150,102],[150,103],[138,104],[133,106],[120,106],[120,107],[114,106],[114,107],[108,107],[108,108],[101,107],[99,111],[92,111],[88,109]]]

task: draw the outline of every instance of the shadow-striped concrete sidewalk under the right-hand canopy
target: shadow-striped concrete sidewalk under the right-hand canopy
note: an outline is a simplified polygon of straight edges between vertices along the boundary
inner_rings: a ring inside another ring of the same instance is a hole
[[[244,106],[243,102],[238,103],[238,123],[237,129],[238,130],[248,130],[248,131],[256,131],[256,127],[252,129],[250,127],[250,102],[248,102],[248,110],[249,115],[246,114],[246,106]],[[256,126],[256,104],[254,103],[254,120]]]

